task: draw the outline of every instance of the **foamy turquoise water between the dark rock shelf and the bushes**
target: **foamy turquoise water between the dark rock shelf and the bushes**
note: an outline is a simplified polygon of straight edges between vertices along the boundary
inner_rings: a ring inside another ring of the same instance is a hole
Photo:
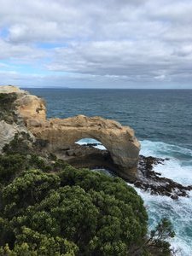
[[[130,184],[129,184],[130,185]],[[172,222],[176,236],[170,239],[172,248],[177,249],[177,256],[192,255],[192,202],[189,198],[177,201],[168,196],[150,195],[148,192],[135,188],[142,196],[144,206],[148,212],[148,227],[153,230],[161,218],[168,218]]]

